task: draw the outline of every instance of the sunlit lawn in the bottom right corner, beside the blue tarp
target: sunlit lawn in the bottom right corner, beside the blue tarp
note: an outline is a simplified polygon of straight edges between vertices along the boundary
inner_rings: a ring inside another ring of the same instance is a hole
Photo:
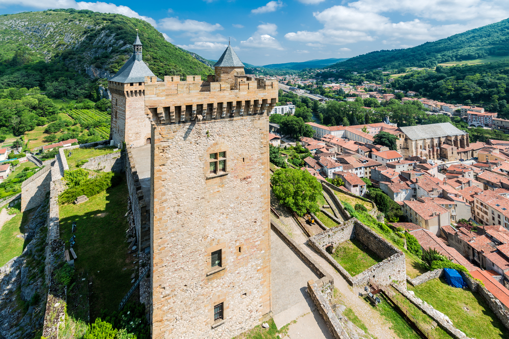
[[[478,293],[451,287],[443,279],[433,279],[416,287],[408,285],[408,289],[449,317],[469,337],[509,338],[509,331]]]

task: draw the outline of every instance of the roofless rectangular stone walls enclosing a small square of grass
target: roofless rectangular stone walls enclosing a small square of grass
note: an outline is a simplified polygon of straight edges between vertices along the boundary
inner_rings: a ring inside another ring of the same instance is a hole
[[[357,239],[383,260],[352,276],[326,250],[329,246],[334,249],[338,244],[351,239]],[[405,254],[355,218],[310,237],[309,245],[334,266],[352,286],[366,285],[368,281],[386,286],[393,281],[406,280]]]

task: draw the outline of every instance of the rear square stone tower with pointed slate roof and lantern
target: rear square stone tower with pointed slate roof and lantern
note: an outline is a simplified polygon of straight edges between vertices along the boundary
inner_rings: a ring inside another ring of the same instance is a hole
[[[123,142],[132,147],[150,143],[150,121],[143,113],[146,76],[158,79],[143,62],[142,42],[136,35],[133,54],[117,74],[108,79],[111,93],[110,139],[120,147]]]

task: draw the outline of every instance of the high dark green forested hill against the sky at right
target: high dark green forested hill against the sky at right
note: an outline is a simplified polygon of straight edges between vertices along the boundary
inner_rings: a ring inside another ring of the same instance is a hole
[[[434,67],[448,61],[472,60],[490,55],[509,55],[509,19],[416,47],[362,54],[330,68],[373,70]]]

